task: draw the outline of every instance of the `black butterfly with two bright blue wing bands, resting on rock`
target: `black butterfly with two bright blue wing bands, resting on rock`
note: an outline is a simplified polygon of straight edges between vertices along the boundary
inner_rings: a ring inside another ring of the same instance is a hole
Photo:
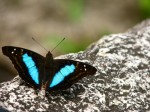
[[[43,57],[33,51],[13,46],[2,47],[2,52],[10,58],[26,83],[35,89],[48,92],[66,89],[97,71],[93,66],[79,61],[54,60],[50,52]]]

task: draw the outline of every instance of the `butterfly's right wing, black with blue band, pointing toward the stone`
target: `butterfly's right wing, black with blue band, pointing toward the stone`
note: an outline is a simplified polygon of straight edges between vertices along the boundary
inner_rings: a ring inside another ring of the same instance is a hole
[[[49,91],[66,89],[83,77],[96,73],[94,67],[79,61],[56,59],[54,63],[57,68],[50,81]]]

